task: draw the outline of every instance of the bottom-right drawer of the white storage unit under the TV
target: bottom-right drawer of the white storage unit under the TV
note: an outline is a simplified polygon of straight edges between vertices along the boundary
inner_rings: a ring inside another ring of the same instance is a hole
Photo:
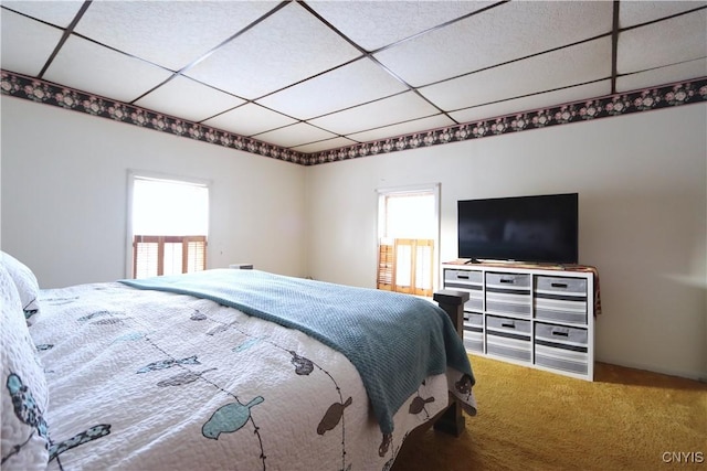
[[[587,374],[589,368],[587,329],[535,324],[535,363],[571,373]]]

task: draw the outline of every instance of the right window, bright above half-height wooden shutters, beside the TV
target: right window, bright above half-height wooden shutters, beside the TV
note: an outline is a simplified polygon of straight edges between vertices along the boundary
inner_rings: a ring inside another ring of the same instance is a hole
[[[378,289],[432,296],[439,185],[379,193]]]

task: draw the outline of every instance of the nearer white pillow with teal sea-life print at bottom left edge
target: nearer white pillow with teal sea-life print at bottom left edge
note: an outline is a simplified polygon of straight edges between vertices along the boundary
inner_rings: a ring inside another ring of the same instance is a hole
[[[44,414],[49,390],[44,370],[22,312],[18,289],[0,264],[2,312],[2,470],[44,470],[49,462],[49,429]]]

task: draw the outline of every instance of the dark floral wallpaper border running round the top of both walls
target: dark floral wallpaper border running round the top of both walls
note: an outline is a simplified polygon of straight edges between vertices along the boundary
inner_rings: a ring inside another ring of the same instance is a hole
[[[157,131],[303,165],[350,160],[421,147],[439,146],[509,132],[707,101],[707,77],[701,77],[659,87],[523,111],[504,117],[454,125],[390,139],[363,142],[323,152],[303,153],[12,72],[1,71],[0,89],[3,95],[73,109],[147,129],[155,129]]]

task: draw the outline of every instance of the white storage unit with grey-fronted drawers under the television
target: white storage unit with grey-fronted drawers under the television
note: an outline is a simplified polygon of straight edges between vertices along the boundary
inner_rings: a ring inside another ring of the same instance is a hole
[[[587,266],[442,264],[444,289],[466,291],[469,353],[594,378],[594,286]]]

